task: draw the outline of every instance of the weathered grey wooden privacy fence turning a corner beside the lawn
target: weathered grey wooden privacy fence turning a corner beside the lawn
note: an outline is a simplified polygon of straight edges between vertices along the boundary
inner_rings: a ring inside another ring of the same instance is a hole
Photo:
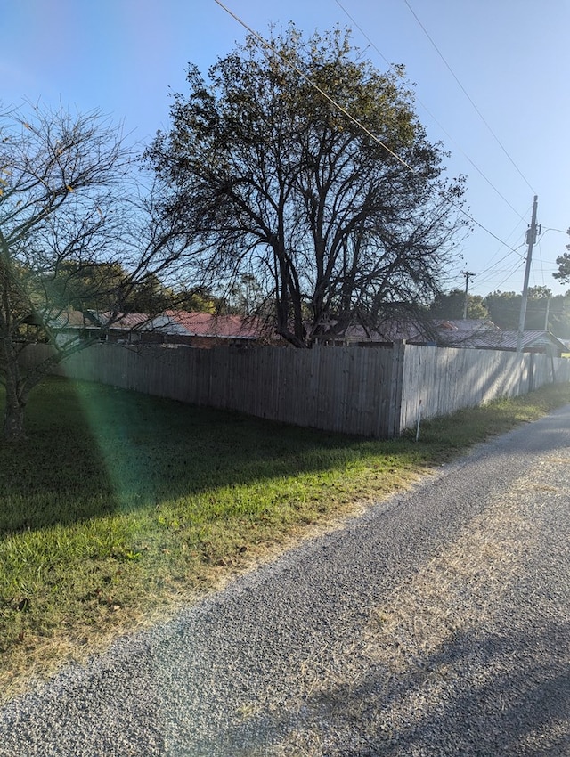
[[[22,367],[49,354],[28,346]],[[96,344],[53,370],[297,426],[392,437],[424,419],[570,380],[570,361],[538,354],[389,347],[215,347]]]

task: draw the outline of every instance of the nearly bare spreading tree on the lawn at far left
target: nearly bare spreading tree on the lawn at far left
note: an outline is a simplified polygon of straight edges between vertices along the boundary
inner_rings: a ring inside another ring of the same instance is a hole
[[[88,346],[58,325],[70,309],[107,311],[109,323],[176,259],[175,219],[151,220],[152,195],[132,183],[120,131],[98,113],[26,106],[0,112],[0,384],[2,435],[24,435],[28,395],[53,364]],[[182,240],[177,235],[178,240]],[[184,243],[184,242],[183,242]],[[30,341],[53,346],[30,369]]]

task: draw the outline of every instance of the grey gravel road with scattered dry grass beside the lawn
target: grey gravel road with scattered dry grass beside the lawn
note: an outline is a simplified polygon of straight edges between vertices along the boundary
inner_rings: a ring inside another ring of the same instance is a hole
[[[2,757],[570,755],[570,406],[0,710]]]

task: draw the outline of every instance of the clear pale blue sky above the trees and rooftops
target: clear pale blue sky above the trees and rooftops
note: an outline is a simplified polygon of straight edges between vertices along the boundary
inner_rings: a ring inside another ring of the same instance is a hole
[[[307,34],[348,26],[379,69],[386,61],[406,66],[419,118],[452,152],[450,175],[468,175],[470,213],[488,230],[477,226],[463,242],[450,287],[463,288],[460,271],[468,270],[473,293],[522,289],[537,194],[543,232],[530,283],[568,289],[551,274],[570,243],[561,233],[570,226],[570,0],[224,5],[261,34],[289,20]],[[0,30],[4,106],[41,98],[100,109],[142,143],[167,128],[169,92],[184,92],[188,62],[206,72],[246,34],[216,0],[0,0]]]

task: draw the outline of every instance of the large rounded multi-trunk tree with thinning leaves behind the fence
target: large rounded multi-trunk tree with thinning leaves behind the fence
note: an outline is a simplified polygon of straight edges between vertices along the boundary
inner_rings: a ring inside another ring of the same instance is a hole
[[[254,275],[295,346],[433,297],[463,187],[444,179],[401,67],[380,73],[340,29],[305,40],[290,25],[187,79],[147,158],[200,273]]]

